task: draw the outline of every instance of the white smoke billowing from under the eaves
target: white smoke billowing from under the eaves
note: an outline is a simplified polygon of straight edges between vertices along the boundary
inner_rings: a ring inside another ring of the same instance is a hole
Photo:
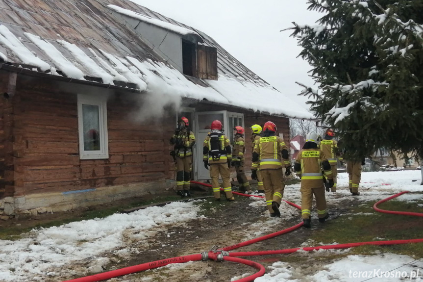
[[[174,93],[171,85],[160,78],[149,79],[147,85],[147,93],[140,94],[140,108],[131,114],[131,120],[141,123],[162,118],[169,108],[175,113],[179,111],[182,98]]]

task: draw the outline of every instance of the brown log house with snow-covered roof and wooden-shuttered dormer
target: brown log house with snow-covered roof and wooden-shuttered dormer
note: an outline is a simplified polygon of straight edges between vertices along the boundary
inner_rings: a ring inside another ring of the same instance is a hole
[[[290,117],[313,118],[207,34],[133,2],[7,0],[0,13],[2,213],[168,189],[180,116],[198,139],[199,180],[213,120],[232,138],[234,126],[268,120],[289,136]]]

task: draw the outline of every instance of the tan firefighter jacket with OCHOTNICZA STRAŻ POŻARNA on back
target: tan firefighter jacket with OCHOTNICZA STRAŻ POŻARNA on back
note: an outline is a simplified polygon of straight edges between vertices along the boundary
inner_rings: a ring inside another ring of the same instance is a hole
[[[332,170],[322,150],[303,149],[299,151],[294,169],[301,178],[301,188],[320,188],[323,186],[323,172],[327,179],[333,179]]]

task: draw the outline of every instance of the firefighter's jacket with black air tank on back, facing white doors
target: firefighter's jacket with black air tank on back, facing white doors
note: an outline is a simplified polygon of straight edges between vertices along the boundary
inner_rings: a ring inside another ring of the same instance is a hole
[[[215,141],[216,142],[215,142]],[[203,161],[225,163],[232,159],[229,139],[221,132],[210,132],[203,143]]]

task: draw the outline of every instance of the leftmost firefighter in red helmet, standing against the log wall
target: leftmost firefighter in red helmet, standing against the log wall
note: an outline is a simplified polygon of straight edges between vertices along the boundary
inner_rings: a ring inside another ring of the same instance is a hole
[[[178,126],[171,138],[174,151],[176,170],[176,193],[181,197],[190,197],[191,170],[193,166],[192,148],[196,143],[196,137],[189,128],[189,121],[186,117],[181,117]]]

